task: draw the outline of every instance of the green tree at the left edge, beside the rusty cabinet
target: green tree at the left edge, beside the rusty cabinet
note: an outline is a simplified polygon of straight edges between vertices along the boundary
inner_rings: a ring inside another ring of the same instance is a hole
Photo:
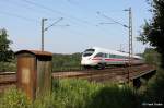
[[[9,62],[13,58],[13,51],[10,48],[12,44],[8,39],[7,29],[0,29],[0,62]]]

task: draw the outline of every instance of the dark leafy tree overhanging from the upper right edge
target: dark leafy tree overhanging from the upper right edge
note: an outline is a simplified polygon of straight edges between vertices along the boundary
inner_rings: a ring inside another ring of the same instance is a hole
[[[161,53],[161,65],[164,68],[164,1],[147,0],[151,5],[152,19],[145,21],[138,40],[150,44]]]

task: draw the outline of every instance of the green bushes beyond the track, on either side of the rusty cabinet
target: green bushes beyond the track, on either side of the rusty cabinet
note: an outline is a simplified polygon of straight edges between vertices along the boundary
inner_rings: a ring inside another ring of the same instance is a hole
[[[52,72],[54,71],[68,71],[80,70],[81,53],[60,55],[54,53],[52,56]],[[16,71],[16,59],[10,62],[0,62],[0,72]]]

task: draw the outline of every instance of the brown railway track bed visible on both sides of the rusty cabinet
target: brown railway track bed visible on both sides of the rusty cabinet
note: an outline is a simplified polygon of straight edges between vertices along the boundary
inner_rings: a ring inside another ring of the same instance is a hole
[[[130,71],[129,71],[130,70]],[[155,70],[151,65],[133,65],[126,68],[107,68],[105,70],[80,70],[80,71],[65,71],[65,72],[54,72],[54,79],[85,79],[95,82],[127,82],[128,71],[129,76],[138,76],[145,71]],[[3,88],[16,84],[15,72],[0,72],[0,92]]]

